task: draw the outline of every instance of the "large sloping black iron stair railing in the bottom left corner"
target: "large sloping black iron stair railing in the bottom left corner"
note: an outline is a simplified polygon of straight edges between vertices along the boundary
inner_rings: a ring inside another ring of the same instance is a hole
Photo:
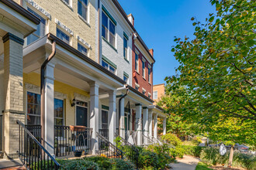
[[[58,169],[60,164],[43,148],[21,121],[19,124],[19,159],[27,169]]]

